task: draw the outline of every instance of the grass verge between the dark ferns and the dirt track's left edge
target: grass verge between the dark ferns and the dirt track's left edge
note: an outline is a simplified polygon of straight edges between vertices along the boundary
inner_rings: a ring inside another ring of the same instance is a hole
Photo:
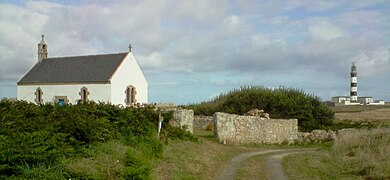
[[[214,179],[230,158],[249,151],[216,142],[211,131],[195,134],[201,142],[174,141],[166,147],[153,179]]]

